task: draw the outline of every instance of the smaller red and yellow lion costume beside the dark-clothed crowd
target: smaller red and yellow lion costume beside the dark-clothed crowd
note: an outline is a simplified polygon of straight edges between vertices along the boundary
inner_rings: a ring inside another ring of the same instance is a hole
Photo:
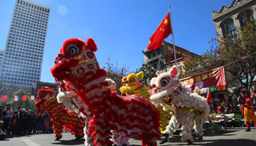
[[[61,139],[63,129],[69,130],[72,134],[75,134],[76,139],[84,136],[84,119],[79,118],[74,111],[68,112],[66,108],[59,104],[53,89],[48,87],[40,89],[35,106],[38,108],[36,111],[37,115],[42,113],[40,108],[43,108],[50,115],[50,120],[54,122],[53,129],[56,141]]]

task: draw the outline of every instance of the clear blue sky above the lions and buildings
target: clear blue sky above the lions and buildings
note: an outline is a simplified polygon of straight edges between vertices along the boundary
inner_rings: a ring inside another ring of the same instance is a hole
[[[220,11],[232,0],[34,0],[50,6],[41,81],[54,82],[54,66],[62,43],[67,38],[91,37],[98,45],[95,53],[101,67],[110,63],[130,72],[143,64],[143,49],[169,11],[173,20],[176,46],[202,54],[216,38],[213,10]],[[0,1],[0,49],[5,49],[15,0]],[[171,42],[171,37],[165,39]]]

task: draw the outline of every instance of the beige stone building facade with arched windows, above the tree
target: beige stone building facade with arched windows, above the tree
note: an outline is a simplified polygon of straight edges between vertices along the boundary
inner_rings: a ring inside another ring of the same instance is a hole
[[[217,39],[232,35],[236,38],[248,19],[255,19],[256,0],[234,0],[230,6],[222,6],[221,11],[213,11],[213,23],[217,33]]]

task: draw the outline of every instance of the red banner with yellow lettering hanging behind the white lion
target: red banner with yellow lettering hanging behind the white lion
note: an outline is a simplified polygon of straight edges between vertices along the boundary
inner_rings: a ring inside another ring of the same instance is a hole
[[[195,89],[208,88],[210,86],[225,86],[224,67],[215,68],[199,75],[180,79],[185,86],[189,86],[191,91]]]

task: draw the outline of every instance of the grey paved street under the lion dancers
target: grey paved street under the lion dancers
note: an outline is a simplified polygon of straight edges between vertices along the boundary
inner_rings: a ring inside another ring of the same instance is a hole
[[[194,145],[217,145],[217,146],[255,146],[256,145],[256,129],[245,132],[245,128],[229,128],[224,132],[210,133],[206,132],[203,141],[199,142],[195,139]],[[159,143],[159,141],[158,141]],[[141,141],[131,139],[132,146],[141,145]],[[58,145],[77,145],[83,146],[83,140],[75,140],[70,133],[63,133],[61,141],[54,141],[54,134],[35,134],[26,137],[9,138],[6,141],[0,141],[0,146],[58,146]],[[160,144],[158,144],[160,145]],[[180,142],[180,136],[175,135],[169,137],[169,142],[162,145],[187,145]]]

